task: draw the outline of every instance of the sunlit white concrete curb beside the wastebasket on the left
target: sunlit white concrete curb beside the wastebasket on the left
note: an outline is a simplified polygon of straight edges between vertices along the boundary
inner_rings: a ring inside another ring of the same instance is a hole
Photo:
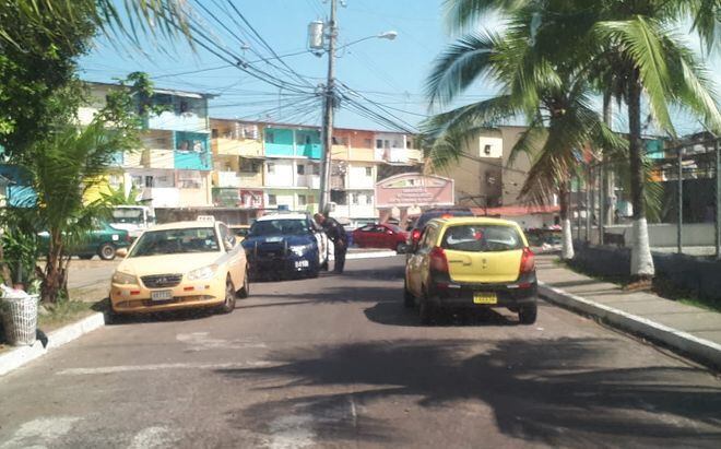
[[[105,326],[105,316],[96,312],[50,332],[47,347],[43,347],[43,344],[36,341],[32,346],[20,346],[0,354],[0,377],[103,326]]]

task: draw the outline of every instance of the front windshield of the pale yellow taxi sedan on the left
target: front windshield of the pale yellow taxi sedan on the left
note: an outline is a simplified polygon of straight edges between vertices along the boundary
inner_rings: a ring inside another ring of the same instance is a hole
[[[214,252],[220,250],[215,229],[198,227],[144,233],[129,257]]]

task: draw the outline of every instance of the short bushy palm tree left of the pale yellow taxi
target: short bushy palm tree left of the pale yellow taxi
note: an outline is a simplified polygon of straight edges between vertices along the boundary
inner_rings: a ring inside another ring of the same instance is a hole
[[[84,203],[86,193],[103,182],[117,151],[138,144],[137,133],[109,130],[101,117],[83,129],[58,129],[23,156],[36,198],[14,213],[49,234],[45,268],[36,270],[43,300],[55,303],[67,293],[67,248],[84,238],[95,218],[109,216],[114,204],[106,198]]]

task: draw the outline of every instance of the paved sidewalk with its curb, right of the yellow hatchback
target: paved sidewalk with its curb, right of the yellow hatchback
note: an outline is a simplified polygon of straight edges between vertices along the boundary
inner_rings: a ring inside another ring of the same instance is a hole
[[[721,314],[652,293],[624,292],[615,284],[563,268],[556,260],[556,256],[536,257],[539,293],[544,299],[721,368]]]

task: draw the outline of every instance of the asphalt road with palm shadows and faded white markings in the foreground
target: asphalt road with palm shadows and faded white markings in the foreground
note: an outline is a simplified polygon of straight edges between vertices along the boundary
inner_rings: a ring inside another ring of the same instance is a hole
[[[0,378],[0,449],[721,447],[721,381],[541,303],[419,327],[403,258],[108,326]]]

